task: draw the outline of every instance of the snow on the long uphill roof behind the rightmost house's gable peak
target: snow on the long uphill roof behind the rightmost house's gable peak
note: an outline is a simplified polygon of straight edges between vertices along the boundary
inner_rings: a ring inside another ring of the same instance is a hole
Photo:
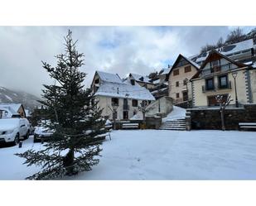
[[[254,48],[254,41],[253,39],[249,39],[246,41],[240,41],[238,43],[232,44],[232,45],[227,45],[227,46],[222,46],[220,48],[217,48],[215,50],[219,51],[222,55],[234,55],[237,52],[241,52],[243,50],[249,50],[251,48]],[[193,55],[189,57],[190,60],[196,58],[196,62],[201,62],[207,58],[209,55],[210,51],[207,51],[204,54],[200,55]]]

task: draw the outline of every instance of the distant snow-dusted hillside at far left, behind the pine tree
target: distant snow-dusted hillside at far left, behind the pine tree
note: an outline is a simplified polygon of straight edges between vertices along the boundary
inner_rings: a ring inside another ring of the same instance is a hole
[[[39,105],[36,101],[38,99],[39,98],[31,93],[17,92],[0,87],[0,103],[22,103],[25,108],[32,110]]]

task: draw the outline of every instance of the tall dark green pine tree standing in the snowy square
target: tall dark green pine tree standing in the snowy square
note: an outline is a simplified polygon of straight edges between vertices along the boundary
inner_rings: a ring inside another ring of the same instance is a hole
[[[91,89],[83,89],[86,74],[79,69],[84,65],[84,55],[76,50],[71,31],[65,36],[65,53],[56,55],[57,65],[42,62],[56,84],[44,85],[40,101],[44,110],[46,127],[55,132],[41,151],[28,150],[17,156],[26,159],[24,164],[39,165],[41,171],[27,177],[28,180],[51,180],[65,175],[76,175],[91,170],[99,163],[104,118],[97,107]]]

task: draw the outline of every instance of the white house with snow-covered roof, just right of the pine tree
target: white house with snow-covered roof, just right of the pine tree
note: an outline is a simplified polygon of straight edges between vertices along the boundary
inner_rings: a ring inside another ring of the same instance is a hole
[[[96,71],[91,84],[94,95],[99,100],[99,108],[103,108],[102,115],[113,119],[113,106],[118,106],[118,120],[127,120],[136,115],[142,117],[138,106],[143,100],[151,103],[155,98],[144,87],[133,79],[122,80],[118,74]]]

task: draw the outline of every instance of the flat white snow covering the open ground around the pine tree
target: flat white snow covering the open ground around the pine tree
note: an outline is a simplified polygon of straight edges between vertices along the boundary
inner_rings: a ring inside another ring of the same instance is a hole
[[[256,180],[255,132],[114,131],[104,141],[99,165],[66,180]],[[0,148],[0,180],[23,180],[37,170],[13,153],[35,148]]]

